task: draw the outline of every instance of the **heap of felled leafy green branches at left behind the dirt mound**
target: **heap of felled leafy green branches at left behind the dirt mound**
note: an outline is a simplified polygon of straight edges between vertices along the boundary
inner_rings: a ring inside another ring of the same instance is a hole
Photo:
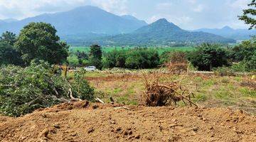
[[[61,75],[55,75],[46,62],[34,62],[26,68],[9,65],[0,70],[0,112],[9,116],[31,113],[38,108],[50,107],[70,99],[92,99],[93,89],[86,80],[75,74],[73,82]],[[79,84],[80,83],[80,84]]]

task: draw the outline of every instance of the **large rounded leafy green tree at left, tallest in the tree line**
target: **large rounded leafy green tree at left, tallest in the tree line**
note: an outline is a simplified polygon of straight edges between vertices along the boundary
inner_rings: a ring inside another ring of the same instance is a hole
[[[31,60],[45,60],[59,64],[68,57],[68,45],[60,42],[56,30],[50,23],[29,23],[18,35],[16,48],[28,65]]]

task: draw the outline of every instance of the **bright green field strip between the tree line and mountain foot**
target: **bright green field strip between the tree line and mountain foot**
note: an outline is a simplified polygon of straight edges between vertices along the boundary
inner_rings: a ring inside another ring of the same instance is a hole
[[[149,47],[149,48],[155,48],[159,54],[163,53],[164,51],[188,51],[188,50],[194,50],[194,47],[189,47],[189,46],[184,46],[184,47]],[[122,50],[122,49],[131,49],[131,47],[102,47],[103,52],[110,52],[114,49],[117,50]],[[84,51],[88,53],[90,51],[90,47],[70,47],[70,52],[75,52],[75,51]]]

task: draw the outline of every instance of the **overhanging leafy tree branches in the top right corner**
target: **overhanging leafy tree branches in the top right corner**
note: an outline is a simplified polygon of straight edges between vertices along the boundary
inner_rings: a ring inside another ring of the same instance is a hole
[[[250,25],[249,29],[256,28],[256,0],[252,0],[248,6],[250,6],[249,9],[243,10],[243,15],[238,16],[240,20],[245,21],[246,24]]]

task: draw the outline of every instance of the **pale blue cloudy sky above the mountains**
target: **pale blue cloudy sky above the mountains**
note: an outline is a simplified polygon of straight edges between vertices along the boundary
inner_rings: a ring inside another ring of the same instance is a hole
[[[0,19],[23,19],[42,13],[98,6],[116,15],[129,14],[147,23],[166,18],[186,30],[248,28],[238,20],[251,0],[0,0]]]

